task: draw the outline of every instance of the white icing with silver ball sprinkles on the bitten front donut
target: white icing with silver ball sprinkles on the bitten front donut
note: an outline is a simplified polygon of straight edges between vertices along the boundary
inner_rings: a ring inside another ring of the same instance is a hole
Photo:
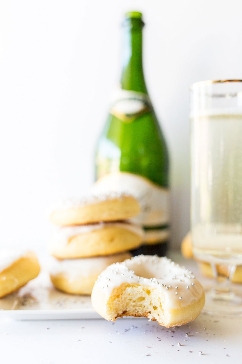
[[[140,255],[123,263],[112,264],[101,273],[95,284],[109,297],[113,289],[124,282],[160,290],[169,309],[196,302],[203,293],[200,282],[191,271],[166,257]]]

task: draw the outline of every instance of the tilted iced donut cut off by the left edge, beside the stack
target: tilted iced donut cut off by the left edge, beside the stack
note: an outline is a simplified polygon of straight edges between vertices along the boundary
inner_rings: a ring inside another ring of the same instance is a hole
[[[0,252],[0,298],[24,286],[38,276],[40,265],[33,252]]]

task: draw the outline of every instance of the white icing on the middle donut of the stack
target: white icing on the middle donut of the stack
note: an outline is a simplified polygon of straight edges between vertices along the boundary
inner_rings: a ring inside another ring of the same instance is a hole
[[[143,229],[139,225],[125,222],[99,222],[97,224],[62,226],[53,234],[51,246],[66,246],[68,241],[74,236],[91,233],[95,230],[101,230],[104,227],[118,227],[120,229],[130,230],[141,237],[143,236]]]

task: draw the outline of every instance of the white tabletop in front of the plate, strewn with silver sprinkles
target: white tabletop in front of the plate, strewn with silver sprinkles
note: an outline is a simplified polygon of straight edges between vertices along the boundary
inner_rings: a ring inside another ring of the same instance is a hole
[[[191,261],[186,266],[194,268]],[[169,329],[146,318],[123,318],[114,323],[103,319],[1,318],[0,362],[242,363],[241,339],[242,317],[204,313],[187,325]]]

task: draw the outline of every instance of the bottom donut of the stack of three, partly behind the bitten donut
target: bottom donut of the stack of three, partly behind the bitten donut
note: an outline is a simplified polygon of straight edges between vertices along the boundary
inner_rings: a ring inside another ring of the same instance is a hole
[[[130,253],[120,253],[105,257],[65,259],[53,258],[50,279],[56,288],[75,294],[91,294],[98,274],[108,265],[131,258]]]

